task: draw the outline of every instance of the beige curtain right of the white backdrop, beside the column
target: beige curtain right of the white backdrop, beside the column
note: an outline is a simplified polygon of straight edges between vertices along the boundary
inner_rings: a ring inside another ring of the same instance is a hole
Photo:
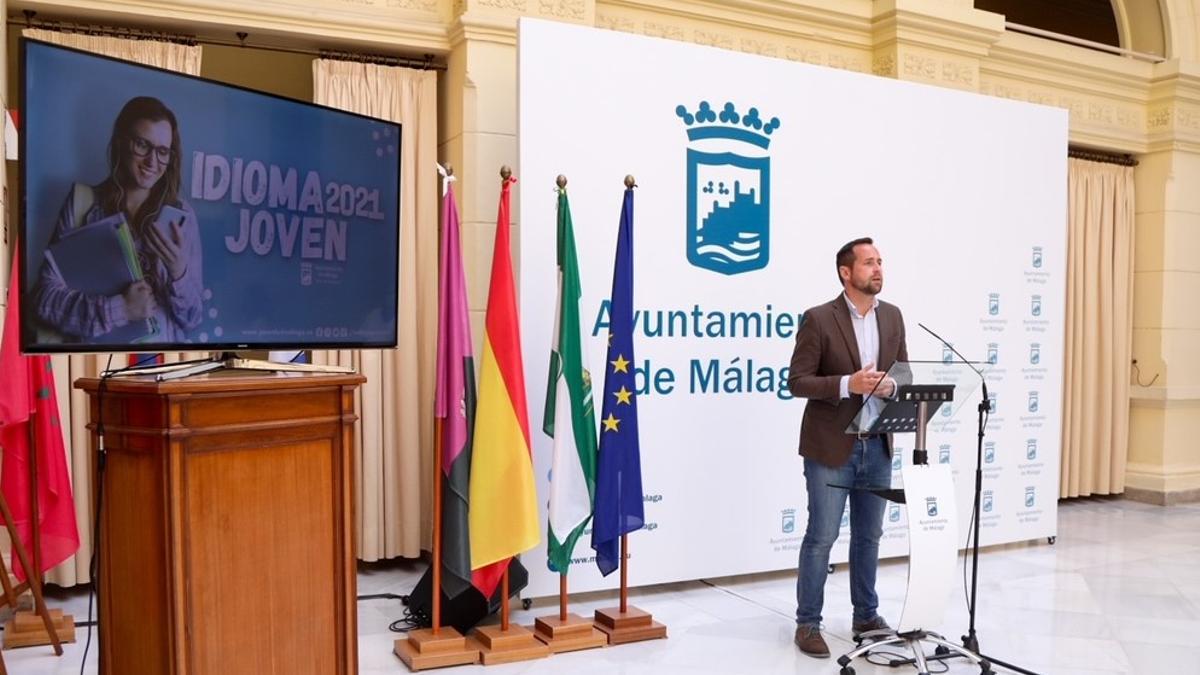
[[[1133,333],[1133,168],[1068,160],[1060,496],[1124,491]]]

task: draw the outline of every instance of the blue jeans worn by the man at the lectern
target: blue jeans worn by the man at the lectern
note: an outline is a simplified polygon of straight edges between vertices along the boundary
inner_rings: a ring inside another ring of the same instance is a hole
[[[850,601],[854,621],[875,619],[880,598],[875,593],[875,571],[880,562],[880,536],[887,502],[871,492],[830,488],[882,488],[892,484],[892,458],[883,438],[854,441],[845,465],[829,468],[804,459],[804,482],[809,491],[809,526],[800,544],[800,562],[796,579],[796,622],[821,623],[824,583],[828,577],[829,549],[838,539],[841,515],[850,498]]]

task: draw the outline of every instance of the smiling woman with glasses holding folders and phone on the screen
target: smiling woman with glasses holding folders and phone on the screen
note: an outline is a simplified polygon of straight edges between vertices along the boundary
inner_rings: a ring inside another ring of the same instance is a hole
[[[125,103],[108,178],[72,186],[34,288],[37,316],[64,340],[180,344],[199,325],[199,227],[180,198],[180,155],[179,124],[162,101]]]

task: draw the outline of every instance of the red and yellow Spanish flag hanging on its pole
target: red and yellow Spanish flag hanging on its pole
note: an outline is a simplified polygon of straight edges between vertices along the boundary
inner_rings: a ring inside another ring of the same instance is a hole
[[[492,597],[509,560],[541,539],[509,257],[514,183],[516,179],[509,178],[500,187],[470,462],[470,567],[475,586],[485,597]]]

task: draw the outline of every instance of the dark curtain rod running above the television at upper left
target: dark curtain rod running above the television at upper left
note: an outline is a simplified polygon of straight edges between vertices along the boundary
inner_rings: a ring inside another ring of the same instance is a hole
[[[109,25],[90,25],[90,24],[77,24],[73,22],[58,22],[58,20],[36,20],[35,16],[37,12],[25,10],[25,20],[8,18],[10,24],[25,26],[25,28],[37,28],[43,30],[53,30],[58,32],[76,32],[82,35],[98,35],[104,37],[121,37],[125,40],[157,40],[160,42],[172,42],[175,44],[186,44],[188,47],[194,47],[197,44],[214,44],[221,47],[245,47],[250,49],[263,49],[265,52],[281,52],[286,54],[304,54],[306,56],[316,56],[318,59],[330,59],[335,61],[355,61],[360,64],[376,64],[380,66],[400,66],[406,68],[418,68],[418,70],[446,70],[445,64],[439,64],[433,60],[433,54],[426,54],[425,58],[418,59],[412,56],[394,56],[390,54],[370,54],[360,52],[349,52],[344,49],[317,49],[317,48],[302,48],[302,47],[284,47],[275,44],[253,44],[247,43],[246,38],[250,37],[248,32],[238,32],[238,40],[220,40],[215,37],[197,37],[194,35],[181,35],[175,32],[145,30],[140,28],[126,28],[126,26],[109,26]]]

